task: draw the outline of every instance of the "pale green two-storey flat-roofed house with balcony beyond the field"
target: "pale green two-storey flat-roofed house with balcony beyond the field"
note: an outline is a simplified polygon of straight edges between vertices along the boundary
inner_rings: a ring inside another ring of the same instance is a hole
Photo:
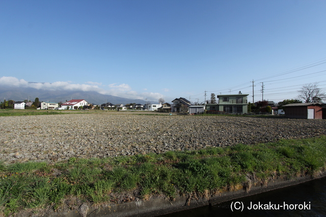
[[[206,110],[227,114],[248,113],[248,96],[249,94],[218,95],[216,103],[206,102]]]

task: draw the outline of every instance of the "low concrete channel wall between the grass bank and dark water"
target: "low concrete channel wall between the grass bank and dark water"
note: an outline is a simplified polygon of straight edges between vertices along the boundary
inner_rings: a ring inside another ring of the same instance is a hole
[[[52,212],[47,213],[46,216],[50,217],[79,217],[79,216],[157,216],[186,209],[192,209],[200,206],[215,205],[225,201],[251,196],[275,189],[289,187],[291,185],[303,183],[326,176],[326,171],[323,171],[314,177],[300,176],[294,177],[290,180],[286,178],[277,178],[269,180],[268,183],[248,183],[246,187],[238,186],[233,191],[221,191],[218,195],[209,198],[192,199],[189,195],[177,196],[174,201],[167,200],[166,198],[155,198],[148,201],[134,201],[129,203],[112,204],[105,208],[95,209],[90,204],[84,203],[78,210],[71,210],[69,212]]]

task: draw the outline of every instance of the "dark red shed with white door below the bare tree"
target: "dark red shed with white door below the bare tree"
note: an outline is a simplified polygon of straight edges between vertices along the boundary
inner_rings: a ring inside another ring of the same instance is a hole
[[[294,103],[283,106],[285,117],[303,119],[322,119],[320,103]]]

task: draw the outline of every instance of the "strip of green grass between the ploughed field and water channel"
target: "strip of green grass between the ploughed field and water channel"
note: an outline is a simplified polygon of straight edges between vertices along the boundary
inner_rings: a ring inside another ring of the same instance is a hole
[[[197,151],[169,151],[106,159],[71,158],[68,162],[0,164],[0,215],[51,205],[57,210],[74,202],[98,205],[135,197],[173,199],[189,194],[207,197],[252,181],[314,175],[324,170],[326,136],[277,143]],[[76,200],[76,199],[75,199]]]

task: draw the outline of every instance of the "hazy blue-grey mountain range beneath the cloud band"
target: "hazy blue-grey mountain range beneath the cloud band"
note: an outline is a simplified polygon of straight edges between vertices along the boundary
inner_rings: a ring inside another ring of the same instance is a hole
[[[140,99],[127,99],[115,97],[112,95],[99,94],[96,91],[68,91],[68,90],[41,90],[35,88],[15,88],[15,87],[0,87],[0,102],[6,100],[23,101],[39,98],[39,101],[46,102],[66,102],[72,99],[86,100],[88,103],[95,105],[110,102],[112,104],[128,104],[140,103],[145,104],[145,100]],[[152,102],[153,103],[153,102]]]

